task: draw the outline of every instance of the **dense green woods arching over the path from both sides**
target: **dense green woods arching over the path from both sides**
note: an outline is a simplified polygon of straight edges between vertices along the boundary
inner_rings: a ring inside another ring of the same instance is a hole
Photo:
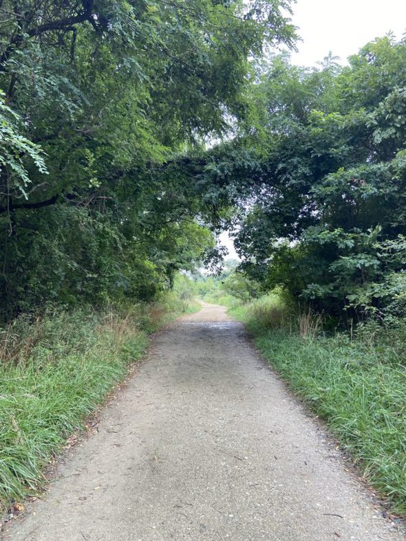
[[[406,44],[292,66],[281,8],[1,4],[4,320],[151,300],[222,228],[264,290],[403,313]]]

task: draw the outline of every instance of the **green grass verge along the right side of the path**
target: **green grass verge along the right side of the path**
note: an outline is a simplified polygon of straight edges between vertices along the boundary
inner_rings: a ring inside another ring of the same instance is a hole
[[[231,313],[246,322],[262,355],[324,419],[392,511],[406,516],[406,371],[398,353],[404,344],[299,338],[295,324],[281,324],[281,311],[268,299]]]

